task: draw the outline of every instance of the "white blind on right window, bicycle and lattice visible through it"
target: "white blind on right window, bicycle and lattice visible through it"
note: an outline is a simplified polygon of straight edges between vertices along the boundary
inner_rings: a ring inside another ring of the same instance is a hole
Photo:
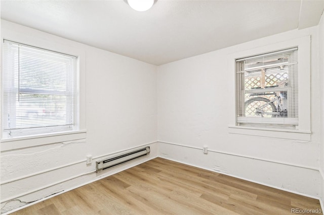
[[[236,123],[298,125],[298,49],[236,60]]]

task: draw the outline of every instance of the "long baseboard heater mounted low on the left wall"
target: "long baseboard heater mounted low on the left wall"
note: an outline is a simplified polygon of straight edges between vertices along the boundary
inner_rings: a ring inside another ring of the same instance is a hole
[[[119,164],[124,164],[130,160],[136,159],[138,157],[145,156],[150,153],[150,147],[147,146],[142,149],[137,149],[126,154],[121,154],[115,157],[107,158],[96,162],[97,173],[105,169],[117,166]]]

